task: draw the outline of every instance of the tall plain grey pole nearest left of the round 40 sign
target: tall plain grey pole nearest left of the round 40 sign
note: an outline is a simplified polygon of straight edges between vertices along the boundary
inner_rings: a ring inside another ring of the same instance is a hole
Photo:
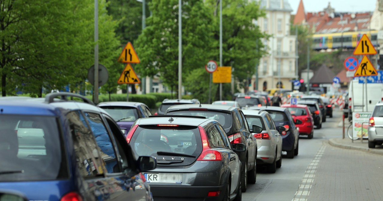
[[[178,0],[178,99],[182,99],[182,0]]]

